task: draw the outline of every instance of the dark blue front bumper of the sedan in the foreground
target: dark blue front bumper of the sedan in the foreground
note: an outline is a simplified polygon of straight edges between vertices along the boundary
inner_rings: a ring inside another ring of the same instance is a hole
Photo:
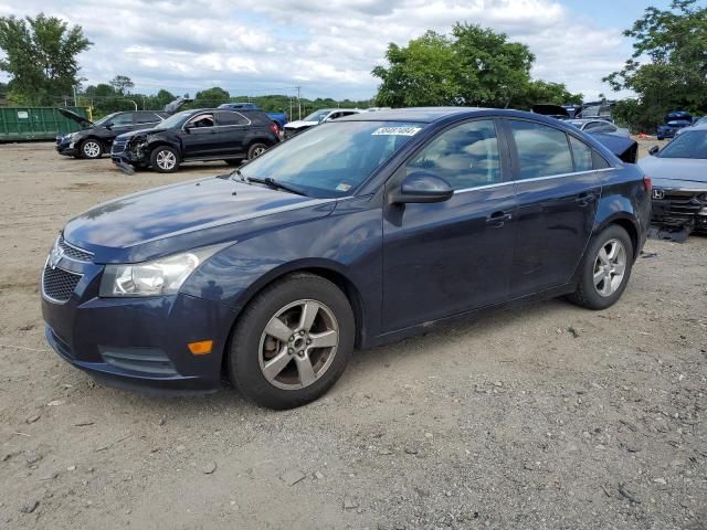
[[[99,298],[103,266],[78,268],[83,275],[67,301],[48,299],[41,287],[46,340],[64,360],[101,382],[131,390],[192,393],[222,386],[232,310],[181,294]],[[202,340],[213,340],[211,353],[193,356],[187,344]]]

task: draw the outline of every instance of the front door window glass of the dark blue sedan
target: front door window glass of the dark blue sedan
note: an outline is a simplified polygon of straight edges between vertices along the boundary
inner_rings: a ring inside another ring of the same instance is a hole
[[[407,174],[433,173],[457,191],[502,182],[494,121],[468,121],[442,132],[408,162],[405,170]]]

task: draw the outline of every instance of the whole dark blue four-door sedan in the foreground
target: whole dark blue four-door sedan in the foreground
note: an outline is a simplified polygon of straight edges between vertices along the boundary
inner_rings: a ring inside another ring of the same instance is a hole
[[[42,274],[46,338],[106,383],[203,392],[226,375],[264,406],[298,406],[355,347],[535,298],[611,306],[650,188],[551,118],[359,114],[72,219]]]

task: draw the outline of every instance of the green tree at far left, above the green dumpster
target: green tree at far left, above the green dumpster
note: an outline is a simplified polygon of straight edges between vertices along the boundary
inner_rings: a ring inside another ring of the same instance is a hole
[[[11,98],[46,105],[70,95],[78,84],[81,52],[92,43],[81,26],[55,17],[0,18],[0,70],[10,74]]]

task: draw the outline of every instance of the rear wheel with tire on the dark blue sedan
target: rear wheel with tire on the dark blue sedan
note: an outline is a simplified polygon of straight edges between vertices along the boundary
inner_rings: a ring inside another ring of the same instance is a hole
[[[633,265],[633,243],[624,229],[611,225],[590,244],[577,290],[569,299],[588,309],[613,306],[626,288]]]

